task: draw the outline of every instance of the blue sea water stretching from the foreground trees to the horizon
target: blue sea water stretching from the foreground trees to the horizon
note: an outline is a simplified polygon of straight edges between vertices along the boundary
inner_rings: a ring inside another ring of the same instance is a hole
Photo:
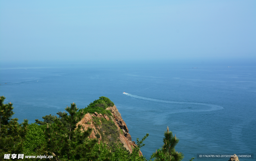
[[[256,67],[227,66],[3,67],[0,95],[5,103],[13,103],[20,123],[56,115],[72,102],[84,108],[100,96],[108,97],[133,141],[149,133],[141,149],[147,159],[163,145],[167,126],[180,139],[175,149],[184,160],[197,153],[256,154]]]

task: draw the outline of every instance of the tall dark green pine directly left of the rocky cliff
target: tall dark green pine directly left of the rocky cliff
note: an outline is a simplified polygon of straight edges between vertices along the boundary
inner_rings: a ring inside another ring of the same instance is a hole
[[[88,137],[92,129],[82,129],[76,124],[82,119],[83,111],[78,112],[75,103],[65,109],[61,121],[55,117],[54,124],[47,124],[45,139],[47,143],[42,150],[47,155],[56,156],[57,160],[94,160],[97,156],[92,156],[96,139],[89,140]]]

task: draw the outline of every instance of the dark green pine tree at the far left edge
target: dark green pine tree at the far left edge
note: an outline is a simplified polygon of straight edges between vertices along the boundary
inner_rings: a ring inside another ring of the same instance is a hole
[[[5,97],[0,97],[0,160],[4,154],[22,154],[23,143],[27,134],[28,120],[24,119],[22,124],[14,115],[13,104],[4,104]],[[17,158],[16,158],[17,159]]]

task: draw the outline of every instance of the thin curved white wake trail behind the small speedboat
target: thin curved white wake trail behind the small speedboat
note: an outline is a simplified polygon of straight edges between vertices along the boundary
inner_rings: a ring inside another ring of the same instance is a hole
[[[204,109],[204,110],[199,110],[199,111],[214,111],[214,110],[221,110],[223,109],[222,106],[218,106],[218,105],[213,105],[213,104],[205,104],[205,103],[196,103],[196,102],[176,102],[176,101],[166,101],[166,100],[160,100],[160,99],[154,99],[154,98],[147,98],[147,97],[141,97],[141,96],[136,96],[136,95],[132,95],[129,93],[123,93],[127,96],[131,96],[131,97],[135,97],[135,98],[140,98],[140,99],[144,99],[144,100],[150,100],[150,101],[157,101],[157,102],[165,102],[165,103],[177,103],[177,104],[194,104],[194,105],[204,105],[204,106],[208,106],[211,109]],[[194,110],[192,110],[194,111]]]

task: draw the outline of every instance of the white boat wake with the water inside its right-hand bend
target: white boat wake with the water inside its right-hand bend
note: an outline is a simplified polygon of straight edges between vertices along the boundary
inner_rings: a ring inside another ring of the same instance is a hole
[[[185,106],[190,105],[190,106],[188,106],[189,109],[190,109],[189,111],[215,111],[215,110],[223,109],[222,106],[213,105],[213,104],[197,103],[197,102],[167,101],[167,100],[161,100],[161,99],[154,99],[154,98],[136,96],[136,95],[132,95],[132,94],[125,93],[125,92],[123,92],[123,94],[125,94],[127,96],[131,96],[131,97],[139,98],[139,99],[149,100],[149,101],[165,102],[165,103],[172,103],[172,104],[184,104]]]

